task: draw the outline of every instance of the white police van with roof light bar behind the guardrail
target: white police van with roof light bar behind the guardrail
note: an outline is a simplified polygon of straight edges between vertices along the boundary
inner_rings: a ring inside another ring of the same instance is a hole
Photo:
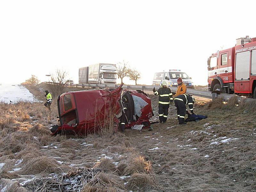
[[[152,85],[161,85],[162,81],[166,81],[168,86],[178,87],[177,79],[182,78],[183,83],[189,89],[195,89],[195,85],[185,72],[180,70],[169,70],[155,73]]]

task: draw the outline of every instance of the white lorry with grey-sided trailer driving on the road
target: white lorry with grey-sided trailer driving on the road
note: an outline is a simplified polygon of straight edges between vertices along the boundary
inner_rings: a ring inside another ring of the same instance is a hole
[[[79,68],[79,84],[116,84],[116,64],[97,63]]]

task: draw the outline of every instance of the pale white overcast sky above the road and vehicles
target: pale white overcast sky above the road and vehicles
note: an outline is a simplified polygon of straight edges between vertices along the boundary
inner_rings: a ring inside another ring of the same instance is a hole
[[[0,83],[56,68],[129,61],[152,84],[181,69],[207,84],[207,58],[236,38],[256,37],[255,1],[0,1]],[[124,83],[133,83],[126,82]]]

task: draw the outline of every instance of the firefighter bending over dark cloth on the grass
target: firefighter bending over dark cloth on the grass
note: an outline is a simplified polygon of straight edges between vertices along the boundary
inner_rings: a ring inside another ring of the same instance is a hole
[[[193,103],[195,102],[195,98],[193,96],[190,96],[188,94],[181,94],[174,98],[175,107],[177,108],[177,115],[179,119],[179,124],[187,124],[185,120],[186,115],[186,105],[188,105],[190,112],[192,114],[194,113],[193,110]]]

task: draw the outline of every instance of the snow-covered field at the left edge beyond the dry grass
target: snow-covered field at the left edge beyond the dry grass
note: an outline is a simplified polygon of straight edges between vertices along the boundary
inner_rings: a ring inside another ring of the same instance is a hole
[[[21,84],[0,84],[0,101],[17,103],[18,101],[38,102],[36,97]]]

